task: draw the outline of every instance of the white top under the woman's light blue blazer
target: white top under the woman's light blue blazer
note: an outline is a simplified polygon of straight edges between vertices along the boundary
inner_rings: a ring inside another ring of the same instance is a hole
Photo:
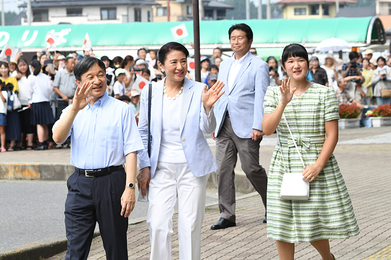
[[[187,162],[180,140],[180,107],[182,95],[169,100],[163,95],[162,136],[157,161],[168,163]]]

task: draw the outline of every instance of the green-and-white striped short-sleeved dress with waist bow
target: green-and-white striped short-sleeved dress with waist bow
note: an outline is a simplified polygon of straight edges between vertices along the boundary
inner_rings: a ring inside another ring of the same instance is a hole
[[[279,87],[268,87],[264,113],[271,114],[281,100]],[[286,120],[306,166],[318,159],[325,142],[325,121],[339,119],[338,101],[332,87],[314,83],[300,97],[293,96],[284,110]],[[303,165],[284,120],[278,126],[282,154],[290,172]],[[267,183],[267,237],[289,243],[321,239],[347,239],[360,232],[348,189],[331,155],[315,180],[310,182],[309,200],[279,198],[284,166],[277,143],[270,162]]]

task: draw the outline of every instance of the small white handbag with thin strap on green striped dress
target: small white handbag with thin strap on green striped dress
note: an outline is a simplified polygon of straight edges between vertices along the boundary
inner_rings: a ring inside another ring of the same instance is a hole
[[[297,148],[296,140],[293,137],[292,131],[290,130],[288,122],[286,121],[285,115],[283,113],[282,113],[282,117],[285,120],[286,126],[288,127],[289,133],[292,137],[292,140],[295,144],[296,150],[299,153],[300,160],[302,161],[303,167],[305,169],[305,164],[304,164],[302,155],[300,154],[299,148]],[[277,129],[277,136],[278,136],[278,143],[280,145],[280,150],[281,150],[282,162],[284,164],[284,169],[285,169],[285,173],[282,177],[280,199],[282,199],[282,200],[308,200],[308,198],[309,198],[309,182],[303,180],[302,173],[290,173],[286,170],[284,156],[282,154],[280,136],[278,134],[278,129]]]

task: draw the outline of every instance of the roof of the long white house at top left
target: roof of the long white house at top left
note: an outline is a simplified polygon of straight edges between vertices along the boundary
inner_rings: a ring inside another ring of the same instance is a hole
[[[33,0],[32,8],[44,7],[74,7],[74,6],[91,6],[91,5],[158,5],[151,0]],[[18,7],[27,7],[27,3],[22,3]]]

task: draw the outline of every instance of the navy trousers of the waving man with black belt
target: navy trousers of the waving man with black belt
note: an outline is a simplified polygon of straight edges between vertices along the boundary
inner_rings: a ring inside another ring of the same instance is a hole
[[[100,177],[74,172],[67,181],[65,260],[87,260],[96,222],[99,223],[107,260],[127,260],[128,218],[121,216],[126,173],[122,168]]]

